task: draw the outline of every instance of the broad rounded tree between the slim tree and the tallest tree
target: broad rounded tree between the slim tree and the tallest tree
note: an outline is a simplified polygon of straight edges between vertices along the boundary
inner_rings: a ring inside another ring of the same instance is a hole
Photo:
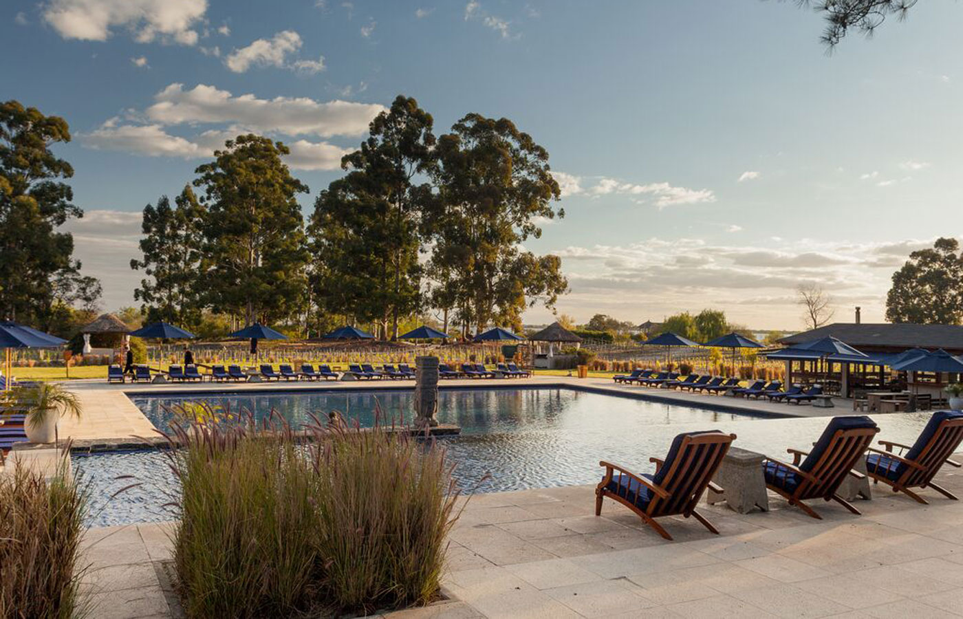
[[[308,188],[281,161],[281,142],[238,136],[196,169],[207,208],[202,270],[207,302],[250,323],[301,307],[305,288],[304,220],[296,196]]]

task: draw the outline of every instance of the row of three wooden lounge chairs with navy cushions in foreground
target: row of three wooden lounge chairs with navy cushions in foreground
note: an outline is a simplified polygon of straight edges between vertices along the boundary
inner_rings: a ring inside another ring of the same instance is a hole
[[[912,446],[879,441],[884,450],[872,448],[877,432],[879,427],[869,417],[834,417],[812,450],[788,450],[794,456],[792,464],[772,457],[763,460],[766,487],[813,518],[821,516],[804,502],[816,499],[835,501],[859,515],[859,510],[837,491],[847,476],[866,477],[853,471],[863,459],[873,482],[882,482],[893,492],[927,503],[914,490],[928,487],[956,500],[950,491],[933,483],[933,477],[944,463],[961,466],[950,460],[950,455],[963,441],[963,412],[934,413]],[[718,533],[695,507],[706,488],[722,491],[712,479],[735,440],[735,434],[718,430],[679,434],[664,460],[650,458],[656,463],[655,475],[638,475],[617,464],[599,462],[605,474],[595,489],[595,515],[601,515],[602,502],[608,498],[638,514],[665,539],[672,536],[655,520],[664,516],[692,516],[706,529]]]

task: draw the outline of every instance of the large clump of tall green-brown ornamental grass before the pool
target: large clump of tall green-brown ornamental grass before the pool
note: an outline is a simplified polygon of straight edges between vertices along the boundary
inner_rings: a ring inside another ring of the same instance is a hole
[[[439,590],[458,491],[445,452],[406,432],[278,416],[173,428],[183,488],[174,564],[190,617],[369,613]],[[336,417],[335,417],[336,419]]]

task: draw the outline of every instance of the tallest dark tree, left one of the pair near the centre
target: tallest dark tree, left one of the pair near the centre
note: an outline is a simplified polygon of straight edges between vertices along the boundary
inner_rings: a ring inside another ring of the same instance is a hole
[[[321,193],[309,226],[325,263],[316,266],[315,297],[329,311],[380,322],[392,339],[400,317],[421,309],[420,228],[431,191],[415,180],[430,166],[431,127],[431,115],[399,95],[342,159],[348,174]]]

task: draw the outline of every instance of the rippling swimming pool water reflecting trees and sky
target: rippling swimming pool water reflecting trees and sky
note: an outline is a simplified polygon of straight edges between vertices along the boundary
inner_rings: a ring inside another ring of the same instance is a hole
[[[207,400],[234,412],[245,408],[256,418],[274,409],[293,426],[307,422],[310,413],[337,410],[362,426],[372,426],[376,405],[383,414],[409,417],[412,399],[411,391],[347,390],[132,398],[162,428],[172,419],[166,406],[179,402]],[[441,423],[461,426],[460,436],[438,442],[455,463],[458,481],[476,492],[592,483],[601,475],[599,460],[651,472],[648,458],[664,456],[672,437],[692,429],[732,432],[738,436],[736,446],[784,457],[787,447],[810,447],[827,423],[819,417],[760,418],[564,388],[442,390],[438,408]],[[874,419],[882,428],[881,437],[912,443],[928,417],[928,413],[913,413]],[[176,516],[162,507],[177,492],[162,453],[75,455],[73,464],[91,484],[92,525],[156,522]],[[131,483],[141,485],[105,501]]]

